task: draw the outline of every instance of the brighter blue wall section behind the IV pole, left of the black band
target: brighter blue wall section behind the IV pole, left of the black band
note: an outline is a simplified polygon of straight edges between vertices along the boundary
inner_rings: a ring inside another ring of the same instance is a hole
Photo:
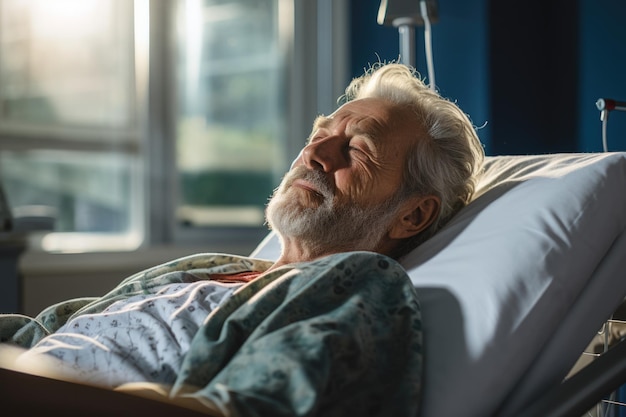
[[[417,0],[416,0],[417,1]],[[487,59],[486,1],[439,0],[439,20],[432,24],[433,62],[440,93],[456,101],[470,116],[485,145],[490,142],[489,63]],[[380,0],[352,0],[352,75],[369,64],[399,57],[398,30],[380,26],[376,17]],[[428,74],[423,29],[416,30],[416,66]],[[487,123],[485,125],[485,123]]]

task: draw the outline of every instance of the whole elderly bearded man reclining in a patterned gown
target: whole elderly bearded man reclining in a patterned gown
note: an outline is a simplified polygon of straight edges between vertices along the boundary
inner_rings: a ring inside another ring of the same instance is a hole
[[[268,204],[276,262],[199,254],[6,316],[2,340],[28,349],[16,366],[215,415],[415,415],[419,294],[394,259],[469,201],[482,147],[405,66],[371,68],[344,100]]]

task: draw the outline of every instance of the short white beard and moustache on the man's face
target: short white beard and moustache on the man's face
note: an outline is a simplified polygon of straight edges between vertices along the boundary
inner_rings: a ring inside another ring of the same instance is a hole
[[[319,206],[305,207],[293,196],[291,183],[298,178],[306,179],[320,191],[323,201]],[[279,236],[298,240],[311,253],[375,251],[389,230],[398,205],[397,198],[372,207],[339,204],[324,175],[301,166],[283,178],[267,206],[266,219]]]

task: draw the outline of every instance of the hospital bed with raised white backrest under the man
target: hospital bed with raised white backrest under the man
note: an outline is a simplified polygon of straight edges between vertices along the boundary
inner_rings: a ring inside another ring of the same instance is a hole
[[[582,416],[626,383],[624,342],[567,377],[626,296],[625,228],[626,153],[488,157],[473,201],[402,260],[422,307],[421,416]],[[270,233],[252,255],[278,253]],[[4,409],[60,390],[76,405],[33,409],[172,411],[6,369],[0,382]]]

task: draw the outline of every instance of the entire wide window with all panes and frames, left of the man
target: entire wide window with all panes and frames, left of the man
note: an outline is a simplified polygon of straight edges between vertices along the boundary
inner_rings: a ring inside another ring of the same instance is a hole
[[[54,252],[258,239],[333,110],[320,94],[345,86],[329,27],[346,4],[0,0],[0,180],[20,227]]]

